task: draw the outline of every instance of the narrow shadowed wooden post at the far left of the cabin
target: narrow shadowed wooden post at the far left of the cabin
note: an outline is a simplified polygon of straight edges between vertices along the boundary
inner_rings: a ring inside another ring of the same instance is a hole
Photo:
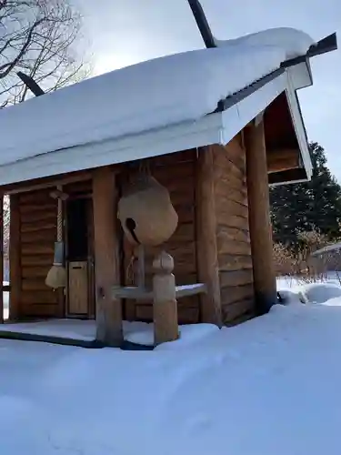
[[[21,245],[20,245],[20,212],[19,195],[11,195],[9,221],[9,320],[20,318],[21,298]]]

